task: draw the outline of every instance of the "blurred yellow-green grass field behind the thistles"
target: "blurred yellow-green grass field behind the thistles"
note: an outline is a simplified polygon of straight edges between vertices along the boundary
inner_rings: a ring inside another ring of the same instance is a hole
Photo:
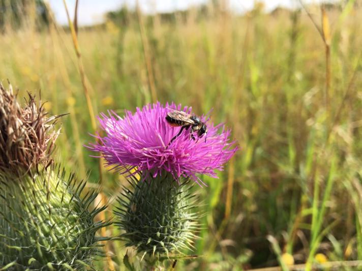
[[[267,14],[261,5],[245,16],[211,4],[203,18],[193,9],[172,22],[130,16],[80,28],[80,58],[68,29],[50,21],[39,32],[29,12],[23,27],[0,34],[0,79],[19,97],[41,90],[52,114],[70,113],[56,157],[110,200],[125,179],[102,169],[100,182],[83,147],[95,133],[84,86],[95,115],[174,101],[199,115],[213,109],[212,120],[232,129],[240,150],[197,188],[206,214],[191,252],[199,257],[177,270],[286,270],[288,254],[307,270],[362,260],[362,6],[338,7],[306,7],[318,28],[303,9]],[[122,243],[107,251],[123,270]]]

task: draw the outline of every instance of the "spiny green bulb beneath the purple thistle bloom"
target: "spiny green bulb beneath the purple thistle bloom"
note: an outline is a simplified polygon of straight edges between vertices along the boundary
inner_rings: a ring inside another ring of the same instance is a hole
[[[126,246],[156,258],[193,248],[199,215],[193,212],[197,205],[190,182],[178,184],[162,175],[143,181],[131,177],[129,183],[133,191],[125,188],[114,211]]]

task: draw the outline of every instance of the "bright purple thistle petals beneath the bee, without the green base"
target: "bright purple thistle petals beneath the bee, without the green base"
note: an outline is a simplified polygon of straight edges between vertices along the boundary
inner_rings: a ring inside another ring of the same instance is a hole
[[[94,152],[100,152],[107,166],[112,166],[121,174],[141,174],[152,177],[169,172],[175,180],[180,177],[193,179],[200,185],[198,174],[206,174],[217,178],[215,170],[223,170],[224,164],[233,156],[237,147],[230,142],[230,130],[224,130],[219,124],[214,126],[207,122],[207,138],[191,139],[190,129],[178,134],[181,127],[170,126],[165,117],[172,110],[191,113],[191,108],[175,104],[164,107],[160,103],[148,104],[142,109],[137,108],[133,114],[125,111],[120,117],[109,111],[98,117],[105,137],[94,136],[98,143],[87,146]],[[205,117],[201,117],[205,122]],[[218,133],[218,130],[222,131]],[[146,173],[149,172],[149,173]]]

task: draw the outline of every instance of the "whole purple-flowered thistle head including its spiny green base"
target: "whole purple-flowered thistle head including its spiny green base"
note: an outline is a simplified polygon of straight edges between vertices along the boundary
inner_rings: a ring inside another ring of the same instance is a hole
[[[113,111],[101,114],[106,135],[95,136],[98,142],[88,146],[101,153],[108,167],[128,176],[131,189],[125,188],[118,197],[115,225],[124,230],[120,237],[126,246],[148,255],[149,262],[193,248],[200,215],[194,211],[198,201],[190,180],[201,185],[198,174],[217,177],[215,170],[223,170],[236,151],[230,131],[205,116],[201,122],[206,121],[206,140],[197,135],[193,140],[190,129],[178,135],[182,128],[166,121],[171,110],[191,113],[189,107],[157,103],[137,108],[134,114],[125,111],[124,117]]]

